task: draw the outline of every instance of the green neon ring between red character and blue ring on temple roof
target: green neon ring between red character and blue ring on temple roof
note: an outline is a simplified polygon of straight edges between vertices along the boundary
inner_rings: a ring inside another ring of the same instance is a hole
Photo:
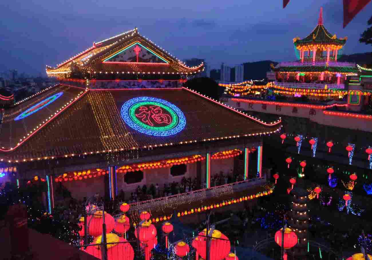
[[[168,126],[162,126],[162,127],[149,126],[148,124],[142,123],[140,120],[138,120],[138,118],[134,114],[135,110],[138,107],[140,107],[141,105],[142,106],[143,105],[158,105],[159,107],[164,108],[171,115],[172,122]],[[138,102],[137,104],[135,104],[131,108],[129,108],[129,116],[134,121],[134,123],[138,124],[139,126],[143,127],[144,129],[153,130],[153,131],[167,131],[167,130],[170,130],[170,129],[174,128],[174,126],[176,126],[176,124],[179,121],[178,116],[176,115],[176,113],[174,113],[173,109],[171,109],[170,107],[168,107],[168,106],[166,106],[166,105],[164,105],[160,102],[155,102],[155,101]]]

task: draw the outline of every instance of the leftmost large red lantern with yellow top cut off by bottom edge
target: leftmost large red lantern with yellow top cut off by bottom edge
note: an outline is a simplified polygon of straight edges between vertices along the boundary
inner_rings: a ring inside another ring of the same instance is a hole
[[[106,217],[106,215],[105,215]],[[99,235],[92,244],[102,243],[102,235]],[[116,234],[106,234],[107,243],[115,242],[127,242],[124,238],[119,237]],[[102,259],[101,248],[100,246],[88,246],[85,250],[88,254],[91,254],[98,259]],[[120,243],[120,244],[108,244],[107,245],[107,259],[108,260],[133,260],[134,259],[134,250],[131,244]]]

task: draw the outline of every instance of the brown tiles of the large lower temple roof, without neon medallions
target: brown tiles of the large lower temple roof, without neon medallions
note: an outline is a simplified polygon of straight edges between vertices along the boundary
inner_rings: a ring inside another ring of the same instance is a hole
[[[65,91],[65,96],[70,93],[74,95],[75,92],[81,90],[75,91],[74,88],[64,85],[60,88]],[[51,94],[48,91],[45,97]],[[122,120],[120,110],[126,101],[137,97],[160,98],[176,105],[185,115],[185,128],[170,136],[152,136],[132,129]],[[57,104],[57,101],[54,102],[56,104],[51,105],[58,108],[61,104]],[[34,100],[27,102],[35,103]],[[29,103],[27,105],[31,106]],[[22,109],[17,113],[13,110],[7,111],[13,115],[9,118],[10,121],[4,122],[1,126],[1,143],[9,145],[13,139],[17,142],[17,138],[25,133],[25,129],[33,128],[42,117],[48,116],[49,110],[54,111],[51,107],[44,108],[19,121],[14,121],[14,119],[12,121],[12,118],[17,116]],[[280,121],[272,124],[261,123],[186,88],[90,90],[16,149],[10,152],[0,152],[0,159],[21,162],[31,158],[47,157],[50,159],[72,154],[103,152],[103,150],[113,152],[133,148],[209,142],[265,134],[279,128]]]

